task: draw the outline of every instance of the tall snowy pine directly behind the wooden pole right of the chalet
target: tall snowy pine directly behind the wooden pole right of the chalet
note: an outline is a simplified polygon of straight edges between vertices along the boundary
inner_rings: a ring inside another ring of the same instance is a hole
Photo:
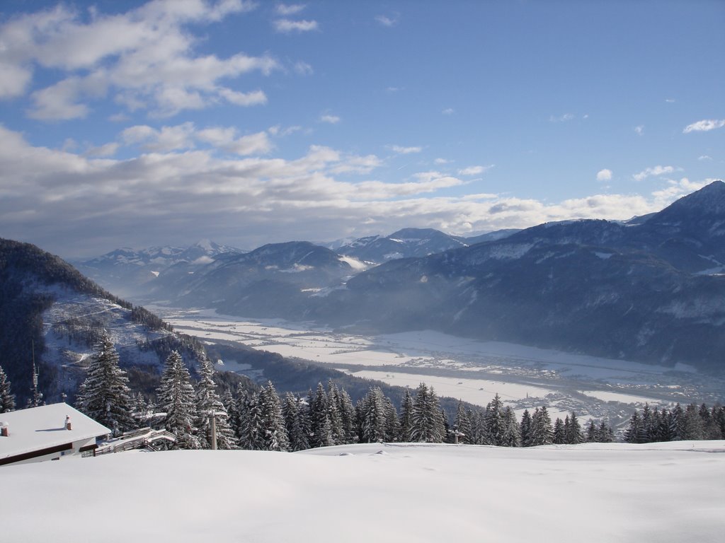
[[[212,448],[212,416],[215,418],[217,449],[236,449],[236,435],[229,424],[229,414],[217,394],[214,364],[202,356],[199,383],[196,384],[196,437],[202,449]]]

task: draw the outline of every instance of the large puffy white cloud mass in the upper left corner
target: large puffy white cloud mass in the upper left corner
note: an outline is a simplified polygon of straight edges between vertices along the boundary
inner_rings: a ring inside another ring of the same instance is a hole
[[[227,92],[218,85],[221,79],[278,69],[270,56],[196,54],[199,41],[188,25],[207,25],[251,9],[252,2],[239,0],[152,1],[118,14],[94,10],[86,18],[59,4],[15,17],[0,25],[0,98],[20,96],[40,66],[59,78],[31,96],[28,114],[36,119],[86,117],[94,101],[109,93],[131,111],[149,109],[157,116],[202,109]],[[256,95],[245,105],[258,103]]]

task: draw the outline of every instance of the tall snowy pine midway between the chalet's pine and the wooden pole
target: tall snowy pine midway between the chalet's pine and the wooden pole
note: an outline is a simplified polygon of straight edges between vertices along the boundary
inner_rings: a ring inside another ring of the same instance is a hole
[[[196,439],[196,403],[191,377],[178,351],[172,351],[166,358],[161,384],[157,389],[159,408],[166,413],[165,428],[175,435],[174,447],[198,449]]]

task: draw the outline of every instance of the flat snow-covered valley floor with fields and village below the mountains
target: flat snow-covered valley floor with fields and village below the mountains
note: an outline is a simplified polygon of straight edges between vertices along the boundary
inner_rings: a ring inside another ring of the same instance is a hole
[[[227,340],[286,357],[328,364],[389,384],[432,384],[440,395],[485,406],[498,393],[518,413],[547,405],[553,416],[575,410],[621,424],[635,407],[725,400],[725,382],[688,366],[674,370],[630,361],[481,342],[440,332],[363,336],[281,319],[243,319],[213,310],[152,307],[179,332]],[[248,367],[224,361],[230,371]],[[250,374],[254,377],[254,374]]]

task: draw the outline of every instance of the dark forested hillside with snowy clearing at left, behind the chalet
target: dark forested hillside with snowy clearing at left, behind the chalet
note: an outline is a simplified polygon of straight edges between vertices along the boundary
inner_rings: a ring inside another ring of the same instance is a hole
[[[136,390],[157,374],[165,356],[180,350],[192,362],[203,352],[191,337],[144,308],[117,298],[61,258],[34,245],[0,240],[0,365],[23,405],[32,361],[49,402],[72,400],[85,377],[94,344],[108,334]]]

